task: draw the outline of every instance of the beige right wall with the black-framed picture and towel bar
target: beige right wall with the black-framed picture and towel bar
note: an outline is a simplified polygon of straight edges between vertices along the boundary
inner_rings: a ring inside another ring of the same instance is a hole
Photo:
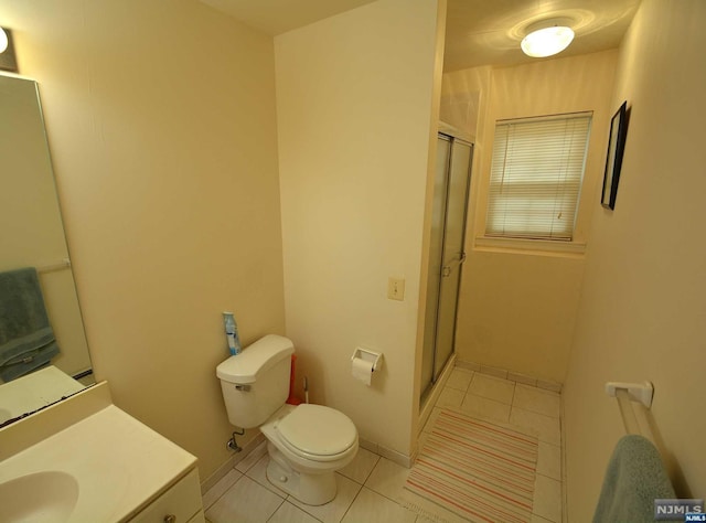
[[[569,521],[590,519],[624,434],[608,381],[652,381],[676,493],[706,495],[705,23],[702,0],[645,0],[620,50],[625,156],[616,210],[593,216],[564,394]]]

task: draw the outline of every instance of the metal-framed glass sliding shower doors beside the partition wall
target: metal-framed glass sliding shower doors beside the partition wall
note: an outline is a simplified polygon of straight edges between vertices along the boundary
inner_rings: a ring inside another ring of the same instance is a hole
[[[421,360],[424,403],[453,353],[466,220],[471,183],[472,140],[439,132],[437,140],[431,244]]]

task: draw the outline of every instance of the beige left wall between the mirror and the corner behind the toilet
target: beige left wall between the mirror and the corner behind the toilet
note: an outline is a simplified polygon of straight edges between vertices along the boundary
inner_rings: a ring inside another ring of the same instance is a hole
[[[192,0],[0,13],[42,89],[97,377],[206,478],[233,429],[221,311],[245,343],[285,329],[272,40]]]

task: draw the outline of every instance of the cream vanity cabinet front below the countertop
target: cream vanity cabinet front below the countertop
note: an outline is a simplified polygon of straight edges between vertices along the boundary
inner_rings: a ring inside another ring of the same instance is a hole
[[[192,469],[129,521],[130,523],[204,523],[197,469]]]

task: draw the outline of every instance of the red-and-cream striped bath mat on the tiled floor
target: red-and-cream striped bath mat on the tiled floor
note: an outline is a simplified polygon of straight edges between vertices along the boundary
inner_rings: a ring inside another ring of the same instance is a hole
[[[536,465],[537,438],[441,409],[404,501],[432,519],[445,512],[441,506],[463,521],[528,522]]]

